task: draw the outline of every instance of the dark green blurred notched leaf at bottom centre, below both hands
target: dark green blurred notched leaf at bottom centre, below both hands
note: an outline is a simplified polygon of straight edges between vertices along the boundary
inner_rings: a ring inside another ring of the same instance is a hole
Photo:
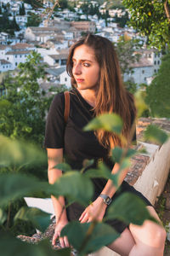
[[[116,240],[118,233],[111,228],[110,225],[104,223],[97,223],[94,227],[93,233],[89,236],[87,243],[86,234],[90,224],[81,224],[80,222],[71,222],[65,226],[61,231],[61,236],[67,236],[71,245],[82,254],[93,253],[99,248],[110,244],[111,241]]]

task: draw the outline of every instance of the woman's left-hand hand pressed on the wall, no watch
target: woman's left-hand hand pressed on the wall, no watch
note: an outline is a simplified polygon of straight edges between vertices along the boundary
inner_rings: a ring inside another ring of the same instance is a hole
[[[60,237],[60,232],[65,227],[66,224],[68,224],[68,220],[65,220],[65,221],[62,220],[62,221],[59,221],[58,224],[56,224],[55,230],[54,230],[53,241],[52,241],[53,246],[55,245],[56,239],[59,237],[59,242],[60,242],[61,247],[70,247],[67,237],[66,236]]]

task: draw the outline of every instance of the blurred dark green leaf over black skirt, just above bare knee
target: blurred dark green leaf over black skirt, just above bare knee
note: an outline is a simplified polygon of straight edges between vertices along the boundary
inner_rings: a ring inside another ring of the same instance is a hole
[[[126,224],[142,225],[145,219],[156,222],[155,218],[150,216],[144,201],[137,195],[128,192],[123,193],[111,203],[105,219],[114,218],[118,218]]]

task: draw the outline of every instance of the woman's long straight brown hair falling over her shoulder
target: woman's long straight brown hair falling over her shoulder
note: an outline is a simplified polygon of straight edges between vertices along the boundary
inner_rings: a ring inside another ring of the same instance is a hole
[[[71,76],[72,87],[77,87],[72,74],[72,56],[74,50],[82,44],[94,49],[94,55],[100,67],[99,90],[94,114],[96,116],[102,113],[119,114],[123,121],[122,135],[128,138],[136,109],[134,107],[133,96],[123,86],[116,50],[107,38],[93,34],[88,34],[80,38],[71,46],[66,65],[67,73]],[[111,149],[116,145],[122,146],[120,137],[112,132],[98,130],[95,131],[95,135],[99,143],[105,148]]]

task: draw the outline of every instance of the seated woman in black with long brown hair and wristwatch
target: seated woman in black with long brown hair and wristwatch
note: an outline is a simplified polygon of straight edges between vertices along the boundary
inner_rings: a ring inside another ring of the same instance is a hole
[[[119,138],[106,131],[84,132],[82,128],[94,116],[114,112],[122,117],[124,122],[122,133],[128,139],[135,118],[133,97],[122,85],[116,52],[108,39],[88,34],[73,44],[68,56],[67,72],[71,75],[72,84],[69,119],[65,124],[63,93],[54,97],[48,113],[45,146],[48,150],[49,183],[54,183],[62,175],[62,172],[54,166],[62,161],[63,154],[73,169],[81,170],[82,161],[85,159],[94,159],[94,166],[97,166],[102,159],[111,168],[111,172],[116,173],[119,166],[111,162],[109,155],[111,148],[115,145],[121,146]],[[159,219],[150,202],[123,181],[126,174],[127,170],[120,177],[119,194],[123,191],[131,191],[139,195],[145,201],[150,214]],[[59,199],[52,196],[56,216],[53,244],[70,220],[79,219],[81,223],[85,223],[93,218],[98,220],[104,218],[109,203],[118,193],[111,180],[94,178],[93,183],[94,201],[86,209],[73,203],[62,212],[65,199],[62,196]],[[161,225],[149,220],[144,221],[142,226],[130,224],[127,227],[117,219],[108,223],[121,233],[116,241],[108,245],[116,253],[135,256],[163,255],[166,232]],[[59,237],[59,241],[62,247],[69,246],[67,237]]]

